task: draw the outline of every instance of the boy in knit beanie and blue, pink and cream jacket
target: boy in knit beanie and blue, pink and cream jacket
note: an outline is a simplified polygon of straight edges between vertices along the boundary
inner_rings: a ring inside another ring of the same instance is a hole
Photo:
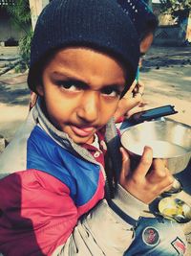
[[[123,255],[132,243],[141,211],[173,182],[149,148],[131,174],[123,149],[119,161],[111,117],[137,66],[116,1],[53,0],[41,13],[28,78],[39,101],[0,159],[4,256]]]

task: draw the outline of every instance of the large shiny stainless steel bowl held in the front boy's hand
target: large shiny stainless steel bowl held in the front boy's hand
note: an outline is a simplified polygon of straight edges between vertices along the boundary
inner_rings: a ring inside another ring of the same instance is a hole
[[[167,159],[172,174],[183,171],[191,156],[191,127],[179,122],[144,122],[127,128],[121,136],[122,146],[134,156],[140,156],[144,146],[153,149],[154,158]]]

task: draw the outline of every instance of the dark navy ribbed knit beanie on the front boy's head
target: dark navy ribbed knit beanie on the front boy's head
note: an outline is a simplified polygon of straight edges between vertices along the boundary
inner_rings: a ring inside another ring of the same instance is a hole
[[[28,84],[35,90],[46,58],[53,49],[85,46],[121,62],[126,89],[134,81],[139,58],[138,35],[116,0],[53,0],[41,12],[31,47]],[[124,91],[124,92],[125,92]]]

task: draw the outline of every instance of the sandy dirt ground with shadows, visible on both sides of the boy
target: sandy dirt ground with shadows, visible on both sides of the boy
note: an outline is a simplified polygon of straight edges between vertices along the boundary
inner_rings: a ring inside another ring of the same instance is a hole
[[[0,69],[15,55],[17,48],[0,47]],[[146,85],[144,99],[148,102],[147,107],[175,105],[179,113],[171,118],[191,126],[191,47],[153,46],[143,66],[140,79]],[[0,76],[0,134],[8,141],[28,115],[30,91],[26,80],[27,73],[14,74],[11,71]],[[183,177],[183,185],[191,205],[190,173]],[[185,224],[184,228],[189,242],[186,255],[190,256],[191,223]]]

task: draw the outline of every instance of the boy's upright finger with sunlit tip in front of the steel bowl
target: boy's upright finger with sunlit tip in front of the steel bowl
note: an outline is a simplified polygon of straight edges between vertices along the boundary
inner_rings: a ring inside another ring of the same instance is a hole
[[[145,146],[138,167],[134,172],[134,175],[146,176],[153,162],[153,150]]]

